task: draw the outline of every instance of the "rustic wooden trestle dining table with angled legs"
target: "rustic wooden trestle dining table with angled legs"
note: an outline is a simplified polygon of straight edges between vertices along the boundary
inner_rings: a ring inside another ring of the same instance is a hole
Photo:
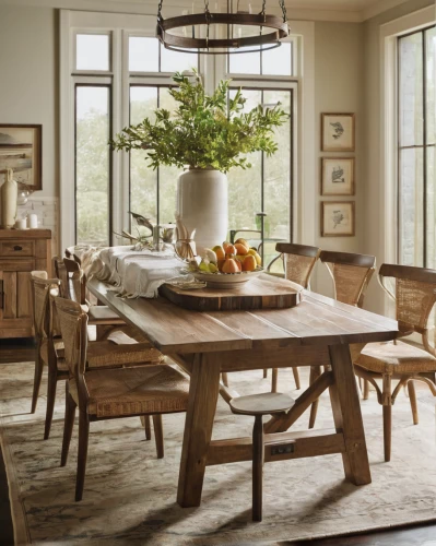
[[[270,277],[270,282],[274,282]],[[201,503],[209,465],[250,461],[251,437],[211,440],[219,395],[234,393],[222,372],[323,366],[323,372],[286,413],[266,423],[266,462],[338,453],[345,478],[355,485],[372,480],[353,357],[366,343],[400,336],[389,318],[304,290],[290,309],[208,311],[184,309],[164,297],[122,299],[97,280],[89,289],[127,323],[139,329],[164,355],[190,376],[189,403],[180,460],[177,500],[181,507]],[[287,431],[329,390],[334,428]],[[288,449],[273,449],[274,439]],[[321,463],[320,463],[321,464]]]

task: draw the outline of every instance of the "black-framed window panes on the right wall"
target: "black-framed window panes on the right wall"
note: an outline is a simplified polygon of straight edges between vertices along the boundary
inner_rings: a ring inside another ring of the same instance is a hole
[[[436,27],[398,39],[399,262],[436,268]]]

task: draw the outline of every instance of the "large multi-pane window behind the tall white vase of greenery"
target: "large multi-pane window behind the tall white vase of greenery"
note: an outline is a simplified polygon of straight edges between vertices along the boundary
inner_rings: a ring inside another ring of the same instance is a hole
[[[158,224],[175,221],[180,169],[153,170],[144,151],[118,153],[107,145],[129,123],[153,117],[156,108],[175,108],[168,93],[175,71],[189,73],[195,68],[209,92],[214,82],[232,78],[231,93],[243,86],[247,108],[280,102],[290,116],[293,112],[297,82],[291,41],[272,51],[205,58],[163,48],[153,36],[152,16],[68,13],[72,55],[64,58],[72,64],[62,79],[68,76],[73,104],[72,124],[62,122],[70,130],[68,153],[73,167],[62,173],[62,202],[69,203],[62,205],[62,217],[71,219],[62,222],[68,244],[74,237],[76,242],[92,245],[122,244],[116,234],[132,228],[129,211]],[[138,28],[150,33],[141,34]],[[290,117],[278,130],[279,151],[273,157],[254,154],[252,169],[227,174],[229,229],[259,230],[257,214],[264,212],[266,261],[274,256],[276,240],[292,237],[293,130]],[[67,193],[71,199],[64,200]],[[259,238],[259,233],[252,238]]]

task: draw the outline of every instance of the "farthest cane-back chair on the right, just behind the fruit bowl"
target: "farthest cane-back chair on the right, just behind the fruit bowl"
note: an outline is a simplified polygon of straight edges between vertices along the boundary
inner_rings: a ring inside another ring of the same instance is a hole
[[[308,245],[295,245],[293,242],[278,242],[275,250],[280,254],[268,265],[268,272],[278,260],[283,260],[285,277],[293,283],[297,283],[303,288],[308,288],[310,284],[310,275],[320,254],[318,247]],[[298,368],[292,368],[294,375],[295,387],[301,389]],[[268,370],[263,370],[263,376]],[[271,392],[278,392],[279,370],[272,369]]]

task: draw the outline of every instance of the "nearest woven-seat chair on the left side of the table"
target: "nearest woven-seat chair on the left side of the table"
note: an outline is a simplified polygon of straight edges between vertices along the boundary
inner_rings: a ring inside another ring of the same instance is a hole
[[[164,456],[162,415],[186,412],[189,380],[167,364],[106,370],[86,370],[87,313],[80,304],[51,297],[58,313],[64,357],[69,368],[66,381],[66,418],[61,466],[68,451],[79,406],[79,452],[75,500],[83,496],[90,423],[105,419],[152,416],[157,458]]]

